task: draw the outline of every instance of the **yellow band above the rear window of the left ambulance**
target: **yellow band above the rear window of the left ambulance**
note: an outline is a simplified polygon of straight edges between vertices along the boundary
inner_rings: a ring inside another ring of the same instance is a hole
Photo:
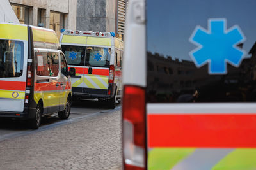
[[[28,41],[28,27],[26,25],[0,24],[0,38]]]

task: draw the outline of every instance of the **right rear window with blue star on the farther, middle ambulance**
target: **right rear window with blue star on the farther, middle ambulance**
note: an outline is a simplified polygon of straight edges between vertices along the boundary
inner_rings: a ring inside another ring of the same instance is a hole
[[[86,66],[109,67],[110,48],[86,47]]]

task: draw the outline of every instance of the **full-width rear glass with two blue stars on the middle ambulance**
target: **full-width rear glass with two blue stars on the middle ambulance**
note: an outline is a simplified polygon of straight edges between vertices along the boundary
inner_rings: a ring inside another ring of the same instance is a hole
[[[68,65],[109,67],[111,48],[62,45]]]

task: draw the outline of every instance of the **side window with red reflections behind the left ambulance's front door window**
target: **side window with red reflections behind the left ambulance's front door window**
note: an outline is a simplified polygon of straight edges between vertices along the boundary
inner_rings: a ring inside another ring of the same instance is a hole
[[[56,77],[59,73],[58,53],[36,52],[36,74]]]

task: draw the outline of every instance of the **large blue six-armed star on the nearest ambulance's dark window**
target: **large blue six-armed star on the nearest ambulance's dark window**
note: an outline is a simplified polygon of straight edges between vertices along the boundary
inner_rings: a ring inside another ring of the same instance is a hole
[[[197,26],[189,38],[198,46],[189,53],[196,67],[209,64],[209,74],[227,74],[227,63],[239,67],[246,52],[237,48],[245,37],[241,29],[234,25],[227,30],[225,18],[209,19],[208,29]]]

